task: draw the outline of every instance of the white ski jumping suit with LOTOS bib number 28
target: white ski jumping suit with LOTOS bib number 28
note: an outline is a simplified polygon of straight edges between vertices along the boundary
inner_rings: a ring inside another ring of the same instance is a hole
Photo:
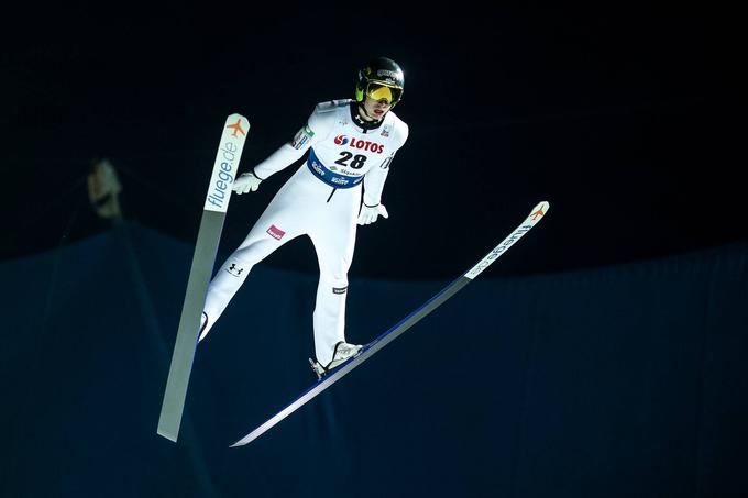
[[[372,125],[361,120],[358,104],[351,100],[317,104],[293,141],[253,170],[265,180],[309,152],[307,161],[278,190],[210,283],[204,335],[254,265],[286,242],[306,234],[315,245],[320,270],[312,319],[315,354],[321,364],[328,364],[334,345],[345,341],[348,270],[353,258],[362,186],[363,202],[377,206],[389,164],[407,136],[407,124],[392,111]]]

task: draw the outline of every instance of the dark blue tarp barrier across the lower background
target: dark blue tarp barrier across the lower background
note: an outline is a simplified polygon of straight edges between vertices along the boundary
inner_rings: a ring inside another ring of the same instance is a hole
[[[191,252],[128,222],[0,264],[1,496],[748,493],[746,244],[488,273],[241,449],[315,380],[317,276],[253,269],[198,348],[175,445],[156,425]],[[352,278],[348,339],[446,284]]]

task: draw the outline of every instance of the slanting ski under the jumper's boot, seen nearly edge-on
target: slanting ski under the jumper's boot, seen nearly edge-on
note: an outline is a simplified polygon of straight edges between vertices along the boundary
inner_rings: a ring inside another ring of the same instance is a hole
[[[433,296],[431,299],[421,305],[420,308],[411,312],[405,319],[403,319],[395,327],[380,335],[373,342],[366,344],[359,354],[350,358],[348,362],[340,365],[338,368],[329,373],[327,376],[322,377],[317,381],[316,385],[307,389],[301,396],[294,400],[286,408],[280,410],[277,414],[273,416],[265,423],[260,425],[254,431],[246,434],[244,438],[240,439],[231,445],[231,447],[243,446],[251,443],[260,435],[264,434],[267,430],[273,428],[275,424],[284,420],[286,417],[298,410],[300,407],[306,405],[317,395],[322,392],[324,389],[332,386],[334,383],[348,375],[352,369],[360,366],[366,359],[372,357],[377,351],[382,350],[384,346],[394,341],[397,336],[402,335],[420,321],[424,317],[429,314],[431,311],[439,308],[449,298],[454,296],[460,289],[473,281],[481,273],[483,273],[492,263],[494,263],[502,254],[506,252],[515,242],[517,242],[522,235],[532,229],[548,212],[549,203],[546,201],[540,202],[536,206],[530,214],[525,219],[525,221],[517,226],[506,239],[502,241],[493,251],[491,251],[485,257],[483,257],[475,266],[470,270],[460,276],[457,280],[452,281],[450,285],[444,287],[439,294]]]

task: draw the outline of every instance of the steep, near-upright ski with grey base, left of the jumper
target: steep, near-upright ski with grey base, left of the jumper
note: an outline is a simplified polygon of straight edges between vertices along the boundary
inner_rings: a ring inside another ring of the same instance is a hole
[[[216,263],[218,244],[221,240],[226,211],[231,199],[231,186],[249,129],[250,123],[243,115],[231,114],[227,118],[202,208],[193,266],[189,270],[179,329],[158,418],[158,434],[174,442],[179,435],[189,375],[195,361],[200,318]]]

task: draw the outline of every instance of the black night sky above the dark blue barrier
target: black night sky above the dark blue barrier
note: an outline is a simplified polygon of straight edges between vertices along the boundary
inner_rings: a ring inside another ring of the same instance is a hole
[[[384,195],[391,219],[360,231],[353,275],[457,276],[539,200],[553,215],[538,243],[492,272],[746,237],[729,12],[61,9],[23,18],[33,24],[3,47],[2,257],[100,229],[80,203],[96,157],[118,168],[127,218],[193,241],[226,115],[252,122],[248,169],[315,103],[350,97],[355,70],[377,55],[405,69],[396,112],[411,134]],[[234,198],[226,247],[295,168]],[[267,264],[316,270],[308,241],[282,251]]]

